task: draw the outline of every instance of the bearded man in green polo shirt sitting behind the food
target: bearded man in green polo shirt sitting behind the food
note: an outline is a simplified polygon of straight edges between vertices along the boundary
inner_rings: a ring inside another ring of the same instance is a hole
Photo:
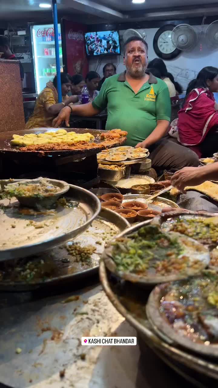
[[[64,107],[53,125],[69,123],[71,112],[94,116],[107,107],[106,129],[120,128],[128,132],[126,145],[149,148],[152,166],[178,170],[198,166],[195,152],[163,139],[169,127],[171,102],[163,80],[146,73],[147,43],[132,37],[125,44],[125,73],[107,78],[99,95],[89,104]]]

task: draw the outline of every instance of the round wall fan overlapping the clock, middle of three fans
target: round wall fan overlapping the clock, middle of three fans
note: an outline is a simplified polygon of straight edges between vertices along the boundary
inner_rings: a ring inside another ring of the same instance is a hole
[[[179,24],[171,35],[172,42],[177,49],[187,50],[197,43],[197,34],[189,24]]]

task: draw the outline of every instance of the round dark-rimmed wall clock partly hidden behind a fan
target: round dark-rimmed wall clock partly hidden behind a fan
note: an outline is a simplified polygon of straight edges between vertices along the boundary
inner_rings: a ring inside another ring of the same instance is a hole
[[[159,58],[173,59],[178,57],[181,53],[181,50],[176,49],[171,41],[173,28],[175,28],[173,24],[166,24],[165,26],[159,28],[154,35],[153,47]]]

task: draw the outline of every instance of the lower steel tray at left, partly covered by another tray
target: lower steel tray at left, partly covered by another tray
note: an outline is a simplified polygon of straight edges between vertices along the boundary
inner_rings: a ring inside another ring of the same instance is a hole
[[[92,220],[91,225],[80,236],[71,239],[66,244],[59,247],[42,252],[35,256],[24,258],[22,263],[27,263],[28,260],[51,260],[55,266],[54,275],[51,278],[42,279],[41,281],[12,281],[9,279],[0,280],[0,291],[33,291],[38,288],[60,286],[71,281],[77,281],[89,276],[95,275],[98,272],[99,260],[104,245],[107,240],[110,240],[114,235],[128,228],[130,224],[127,220],[118,213],[114,213],[109,209],[102,209],[99,216]],[[89,263],[76,262],[73,256],[69,255],[67,246],[72,243],[79,244],[81,247],[87,245],[94,246],[96,251],[92,254]],[[9,262],[10,265],[10,262]],[[17,262],[17,266],[19,263]],[[7,269],[6,269],[7,268]],[[0,273],[3,270],[8,270],[5,263],[0,266]],[[12,267],[13,270],[13,267]]]

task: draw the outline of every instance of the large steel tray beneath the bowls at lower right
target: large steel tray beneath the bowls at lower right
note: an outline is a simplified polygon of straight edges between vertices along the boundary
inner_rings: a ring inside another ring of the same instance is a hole
[[[142,289],[134,284],[120,282],[114,275],[111,276],[103,260],[100,261],[99,276],[111,303],[137,330],[142,352],[145,345],[149,346],[166,364],[198,387],[217,386],[216,360],[185,352],[180,346],[174,346],[168,338],[163,340],[154,332],[145,310],[149,292],[144,290],[142,293]]]

